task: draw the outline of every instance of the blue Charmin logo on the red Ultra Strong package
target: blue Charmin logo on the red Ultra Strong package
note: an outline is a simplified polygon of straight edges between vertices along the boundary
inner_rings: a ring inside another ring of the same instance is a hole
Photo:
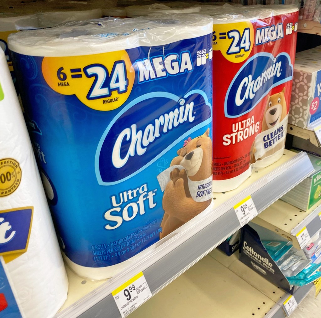
[[[257,53],[232,80],[224,103],[225,116],[236,118],[251,111],[269,91],[292,80],[293,66],[287,53],[274,57]]]

